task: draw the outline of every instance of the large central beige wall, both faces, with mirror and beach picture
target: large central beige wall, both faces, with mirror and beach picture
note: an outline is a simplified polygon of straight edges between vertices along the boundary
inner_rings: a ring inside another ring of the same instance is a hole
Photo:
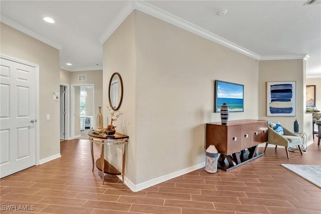
[[[113,72],[124,82],[120,127],[134,184],[205,161],[205,124],[220,121],[215,79],[244,84],[245,111],[230,120],[258,119],[258,61],[229,48],[134,11],[103,53],[104,82]]]

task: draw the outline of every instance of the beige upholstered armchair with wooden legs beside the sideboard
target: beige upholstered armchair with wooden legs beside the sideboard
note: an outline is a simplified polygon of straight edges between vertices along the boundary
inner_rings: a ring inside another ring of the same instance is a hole
[[[288,129],[283,128],[283,135],[280,135],[278,132],[273,130],[273,128],[270,127],[270,122],[268,126],[268,140],[265,145],[264,152],[266,151],[268,144],[275,145],[275,149],[277,146],[284,146],[286,151],[287,158],[290,158],[288,148],[297,146],[301,155],[303,155],[301,150],[302,141],[301,138],[295,135],[293,132],[289,131]]]

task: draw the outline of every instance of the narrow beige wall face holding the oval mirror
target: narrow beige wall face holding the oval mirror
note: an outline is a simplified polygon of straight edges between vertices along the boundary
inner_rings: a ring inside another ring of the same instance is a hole
[[[103,44],[103,109],[104,126],[110,124],[108,85],[114,72],[121,75],[123,81],[123,100],[119,111],[124,114],[113,123],[116,131],[129,136],[126,177],[136,183],[136,58],[135,58],[135,13],[130,14],[118,29]],[[108,121],[105,120],[108,117]],[[112,155],[111,163],[121,169],[121,146],[110,147],[106,157]]]

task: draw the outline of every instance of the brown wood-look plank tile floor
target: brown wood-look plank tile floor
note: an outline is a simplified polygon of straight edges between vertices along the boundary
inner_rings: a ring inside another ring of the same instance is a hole
[[[321,189],[280,165],[321,165],[316,139],[303,156],[290,152],[287,159],[284,147],[269,147],[264,156],[229,172],[202,168],[139,192],[111,175],[102,185],[100,172],[91,171],[89,148],[88,140],[63,141],[61,158],[1,179],[0,212],[321,213]],[[35,210],[3,210],[7,205]]]

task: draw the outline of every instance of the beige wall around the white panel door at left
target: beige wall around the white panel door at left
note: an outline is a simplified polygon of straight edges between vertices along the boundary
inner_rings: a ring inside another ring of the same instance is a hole
[[[60,154],[59,50],[1,23],[1,54],[39,65],[40,160]],[[50,114],[50,120],[46,120]]]

